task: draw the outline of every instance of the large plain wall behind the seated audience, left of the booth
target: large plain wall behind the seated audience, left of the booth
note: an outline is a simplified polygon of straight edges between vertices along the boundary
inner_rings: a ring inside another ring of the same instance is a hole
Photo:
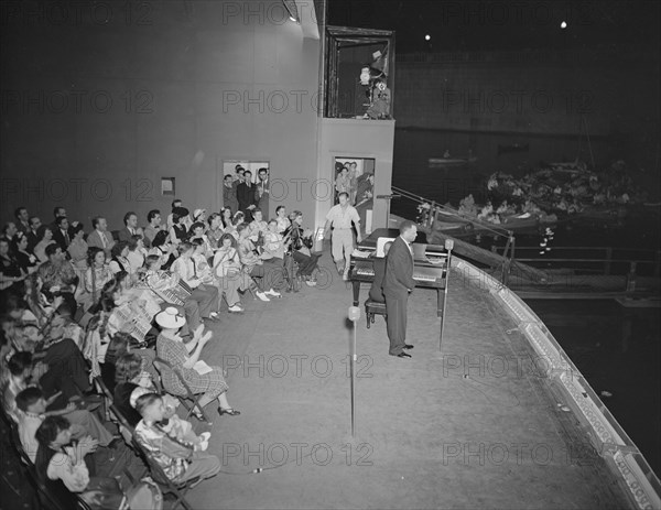
[[[142,224],[170,210],[161,177],[218,210],[223,160],[263,160],[271,214],[312,221],[292,182],[316,175],[321,42],[281,0],[101,3],[3,2],[2,218],[62,205],[86,228],[127,210]]]

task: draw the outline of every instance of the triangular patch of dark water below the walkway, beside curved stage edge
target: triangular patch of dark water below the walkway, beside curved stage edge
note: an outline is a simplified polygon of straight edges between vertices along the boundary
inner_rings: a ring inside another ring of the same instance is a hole
[[[625,308],[616,301],[527,303],[661,474],[659,308]]]

